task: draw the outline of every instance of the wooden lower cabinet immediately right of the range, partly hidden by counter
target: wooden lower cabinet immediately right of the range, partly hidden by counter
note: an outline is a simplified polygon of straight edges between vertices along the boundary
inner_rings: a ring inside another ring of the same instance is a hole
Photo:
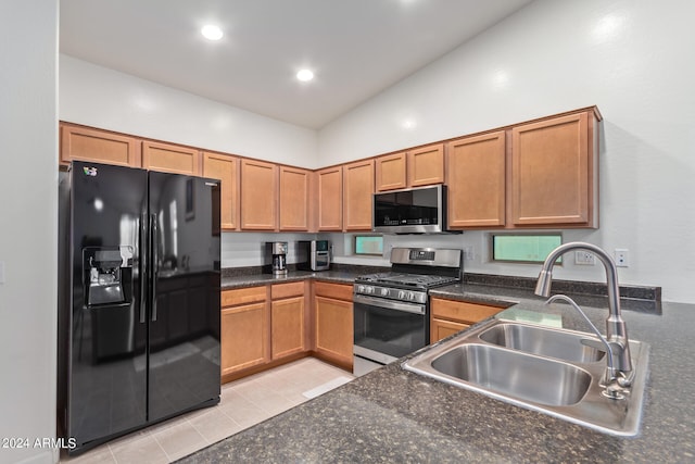
[[[494,316],[504,309],[504,306],[432,298],[430,300],[430,343]]]

